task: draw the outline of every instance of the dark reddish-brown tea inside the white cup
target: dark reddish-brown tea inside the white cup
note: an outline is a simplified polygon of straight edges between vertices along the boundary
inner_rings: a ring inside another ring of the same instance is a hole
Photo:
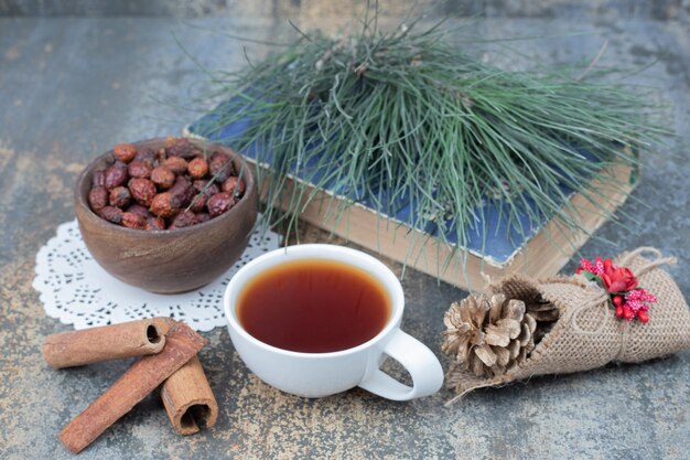
[[[237,317],[269,345],[304,353],[357,346],[390,315],[384,286],[364,270],[332,260],[285,263],[258,275],[239,293]]]

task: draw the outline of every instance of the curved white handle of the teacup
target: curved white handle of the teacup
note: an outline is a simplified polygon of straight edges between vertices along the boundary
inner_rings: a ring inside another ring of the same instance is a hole
[[[436,356],[408,333],[398,329],[384,353],[410,373],[412,386],[401,384],[377,367],[359,383],[362,388],[388,399],[408,400],[432,395],[443,385],[443,370]]]

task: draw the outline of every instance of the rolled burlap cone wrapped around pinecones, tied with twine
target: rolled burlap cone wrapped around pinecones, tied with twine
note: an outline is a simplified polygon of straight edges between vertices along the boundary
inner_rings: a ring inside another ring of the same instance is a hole
[[[642,257],[651,252],[655,260]],[[660,268],[673,263],[654,248],[639,248],[618,256],[614,264],[628,267],[639,286],[657,296],[649,322],[616,318],[607,303],[608,293],[581,276],[532,280],[513,276],[489,286],[493,293],[529,301],[541,296],[556,304],[559,319],[527,360],[494,378],[453,370],[446,386],[459,397],[473,389],[529,378],[535,375],[587,371],[610,362],[638,363],[690,347],[690,311],[673,279]]]

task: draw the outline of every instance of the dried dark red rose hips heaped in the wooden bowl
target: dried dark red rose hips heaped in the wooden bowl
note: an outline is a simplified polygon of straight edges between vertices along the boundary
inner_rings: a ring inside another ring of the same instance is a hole
[[[169,138],[158,151],[115,146],[110,164],[94,172],[88,203],[114,224],[160,231],[217,217],[244,193],[229,156],[206,156],[187,139]]]

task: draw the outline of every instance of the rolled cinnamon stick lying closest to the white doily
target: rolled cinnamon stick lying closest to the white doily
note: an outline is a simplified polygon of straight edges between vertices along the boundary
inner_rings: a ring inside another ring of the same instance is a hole
[[[62,332],[45,339],[43,357],[61,368],[154,354],[163,350],[164,334],[151,319]]]

